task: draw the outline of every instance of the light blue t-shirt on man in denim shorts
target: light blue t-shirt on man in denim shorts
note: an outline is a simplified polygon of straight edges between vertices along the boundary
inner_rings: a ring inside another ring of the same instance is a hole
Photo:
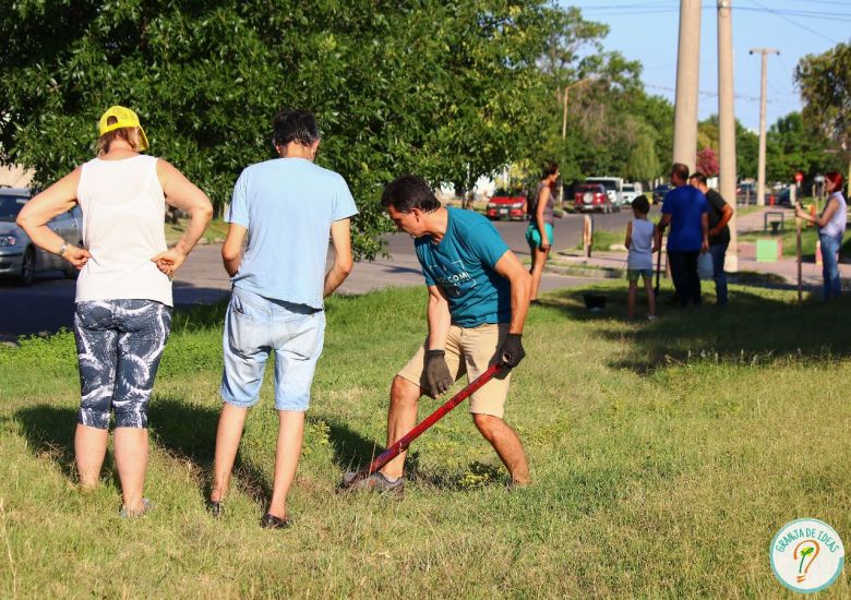
[[[233,286],[265,298],[322,308],[331,224],[357,215],[338,173],[304,158],[247,167],[227,219],[248,228]]]

